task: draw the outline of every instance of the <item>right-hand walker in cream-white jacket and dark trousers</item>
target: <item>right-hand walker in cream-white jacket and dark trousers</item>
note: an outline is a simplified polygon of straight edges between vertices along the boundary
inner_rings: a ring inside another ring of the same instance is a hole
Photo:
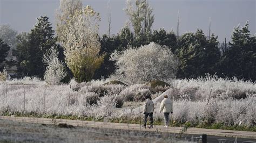
[[[167,95],[164,95],[164,99],[160,104],[159,112],[164,113],[165,127],[169,126],[169,115],[172,113],[172,101]]]

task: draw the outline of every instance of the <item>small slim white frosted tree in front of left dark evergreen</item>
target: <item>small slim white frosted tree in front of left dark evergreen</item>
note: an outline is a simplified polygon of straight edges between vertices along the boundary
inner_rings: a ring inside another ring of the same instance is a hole
[[[51,47],[43,56],[43,62],[47,65],[44,80],[49,85],[59,85],[66,76],[64,63],[58,59],[58,54],[57,49]]]

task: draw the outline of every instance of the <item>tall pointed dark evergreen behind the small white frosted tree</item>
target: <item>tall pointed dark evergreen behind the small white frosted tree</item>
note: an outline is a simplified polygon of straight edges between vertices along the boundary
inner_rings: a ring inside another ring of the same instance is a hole
[[[36,25],[30,33],[18,35],[17,59],[19,76],[43,77],[45,65],[42,63],[43,54],[52,46],[56,46],[57,38],[53,37],[48,17],[37,18]]]

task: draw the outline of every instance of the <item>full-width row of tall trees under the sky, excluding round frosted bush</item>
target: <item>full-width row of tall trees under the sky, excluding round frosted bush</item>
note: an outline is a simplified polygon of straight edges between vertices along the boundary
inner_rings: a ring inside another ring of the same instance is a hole
[[[110,34],[111,15],[108,15],[109,33],[99,35],[99,13],[91,6],[84,7],[80,0],[60,1],[56,32],[47,16],[39,17],[28,33],[17,34],[3,25],[0,27],[0,63],[5,65],[0,70],[15,65],[17,77],[55,75],[55,68],[49,67],[52,64],[43,61],[43,57],[49,57],[52,54],[49,51],[52,51],[59,59],[55,63],[63,65],[62,69],[67,72],[60,72],[66,75],[63,82],[68,82],[71,77],[78,82],[90,81],[109,77],[116,71],[116,61],[110,60],[112,53],[154,42],[169,48],[179,59],[177,78],[197,78],[209,73],[256,80],[256,35],[251,35],[248,22],[235,27],[231,41],[219,48],[218,36],[207,37],[200,29],[180,36],[164,28],[152,30],[153,9],[146,0],[127,1],[125,13],[131,27],[126,25],[117,34]],[[15,58],[6,60],[10,49]]]

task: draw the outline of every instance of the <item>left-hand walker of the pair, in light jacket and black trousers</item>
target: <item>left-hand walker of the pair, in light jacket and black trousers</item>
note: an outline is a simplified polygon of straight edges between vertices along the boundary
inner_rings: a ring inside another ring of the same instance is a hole
[[[150,117],[150,126],[149,128],[153,128],[153,112],[154,112],[154,103],[150,96],[145,97],[144,103],[144,125],[142,127],[146,128],[147,117]]]

